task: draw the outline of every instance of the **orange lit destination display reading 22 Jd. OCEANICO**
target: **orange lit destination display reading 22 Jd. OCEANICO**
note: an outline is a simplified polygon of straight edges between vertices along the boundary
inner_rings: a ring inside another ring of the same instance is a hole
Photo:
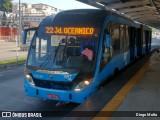
[[[47,34],[93,35],[92,27],[46,27]]]

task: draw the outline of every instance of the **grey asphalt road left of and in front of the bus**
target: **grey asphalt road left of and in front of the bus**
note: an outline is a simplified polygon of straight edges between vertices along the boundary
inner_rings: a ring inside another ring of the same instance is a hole
[[[24,66],[0,71],[0,111],[68,111],[78,104],[56,107],[56,101],[27,97],[23,88]],[[65,114],[64,114],[65,115]],[[62,115],[62,117],[64,116]],[[44,118],[43,118],[44,119]],[[60,119],[60,118],[46,118]],[[0,118],[2,120],[2,118]]]

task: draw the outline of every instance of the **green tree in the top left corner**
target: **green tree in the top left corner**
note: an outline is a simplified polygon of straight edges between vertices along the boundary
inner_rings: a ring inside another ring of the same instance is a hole
[[[0,11],[11,12],[12,0],[0,0]]]

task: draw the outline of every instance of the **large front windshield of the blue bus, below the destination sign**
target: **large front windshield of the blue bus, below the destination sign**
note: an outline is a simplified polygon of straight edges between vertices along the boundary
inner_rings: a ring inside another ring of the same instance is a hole
[[[46,70],[69,69],[94,72],[98,49],[98,34],[94,36],[35,34],[27,65]],[[93,52],[92,59],[82,55],[86,46]]]

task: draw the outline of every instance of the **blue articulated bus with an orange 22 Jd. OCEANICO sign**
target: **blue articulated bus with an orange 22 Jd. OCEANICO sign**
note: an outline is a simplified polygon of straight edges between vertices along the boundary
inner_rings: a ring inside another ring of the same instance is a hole
[[[86,46],[93,52],[92,60],[82,55]],[[25,93],[82,103],[150,48],[149,27],[105,10],[68,10],[48,16],[32,38]]]

